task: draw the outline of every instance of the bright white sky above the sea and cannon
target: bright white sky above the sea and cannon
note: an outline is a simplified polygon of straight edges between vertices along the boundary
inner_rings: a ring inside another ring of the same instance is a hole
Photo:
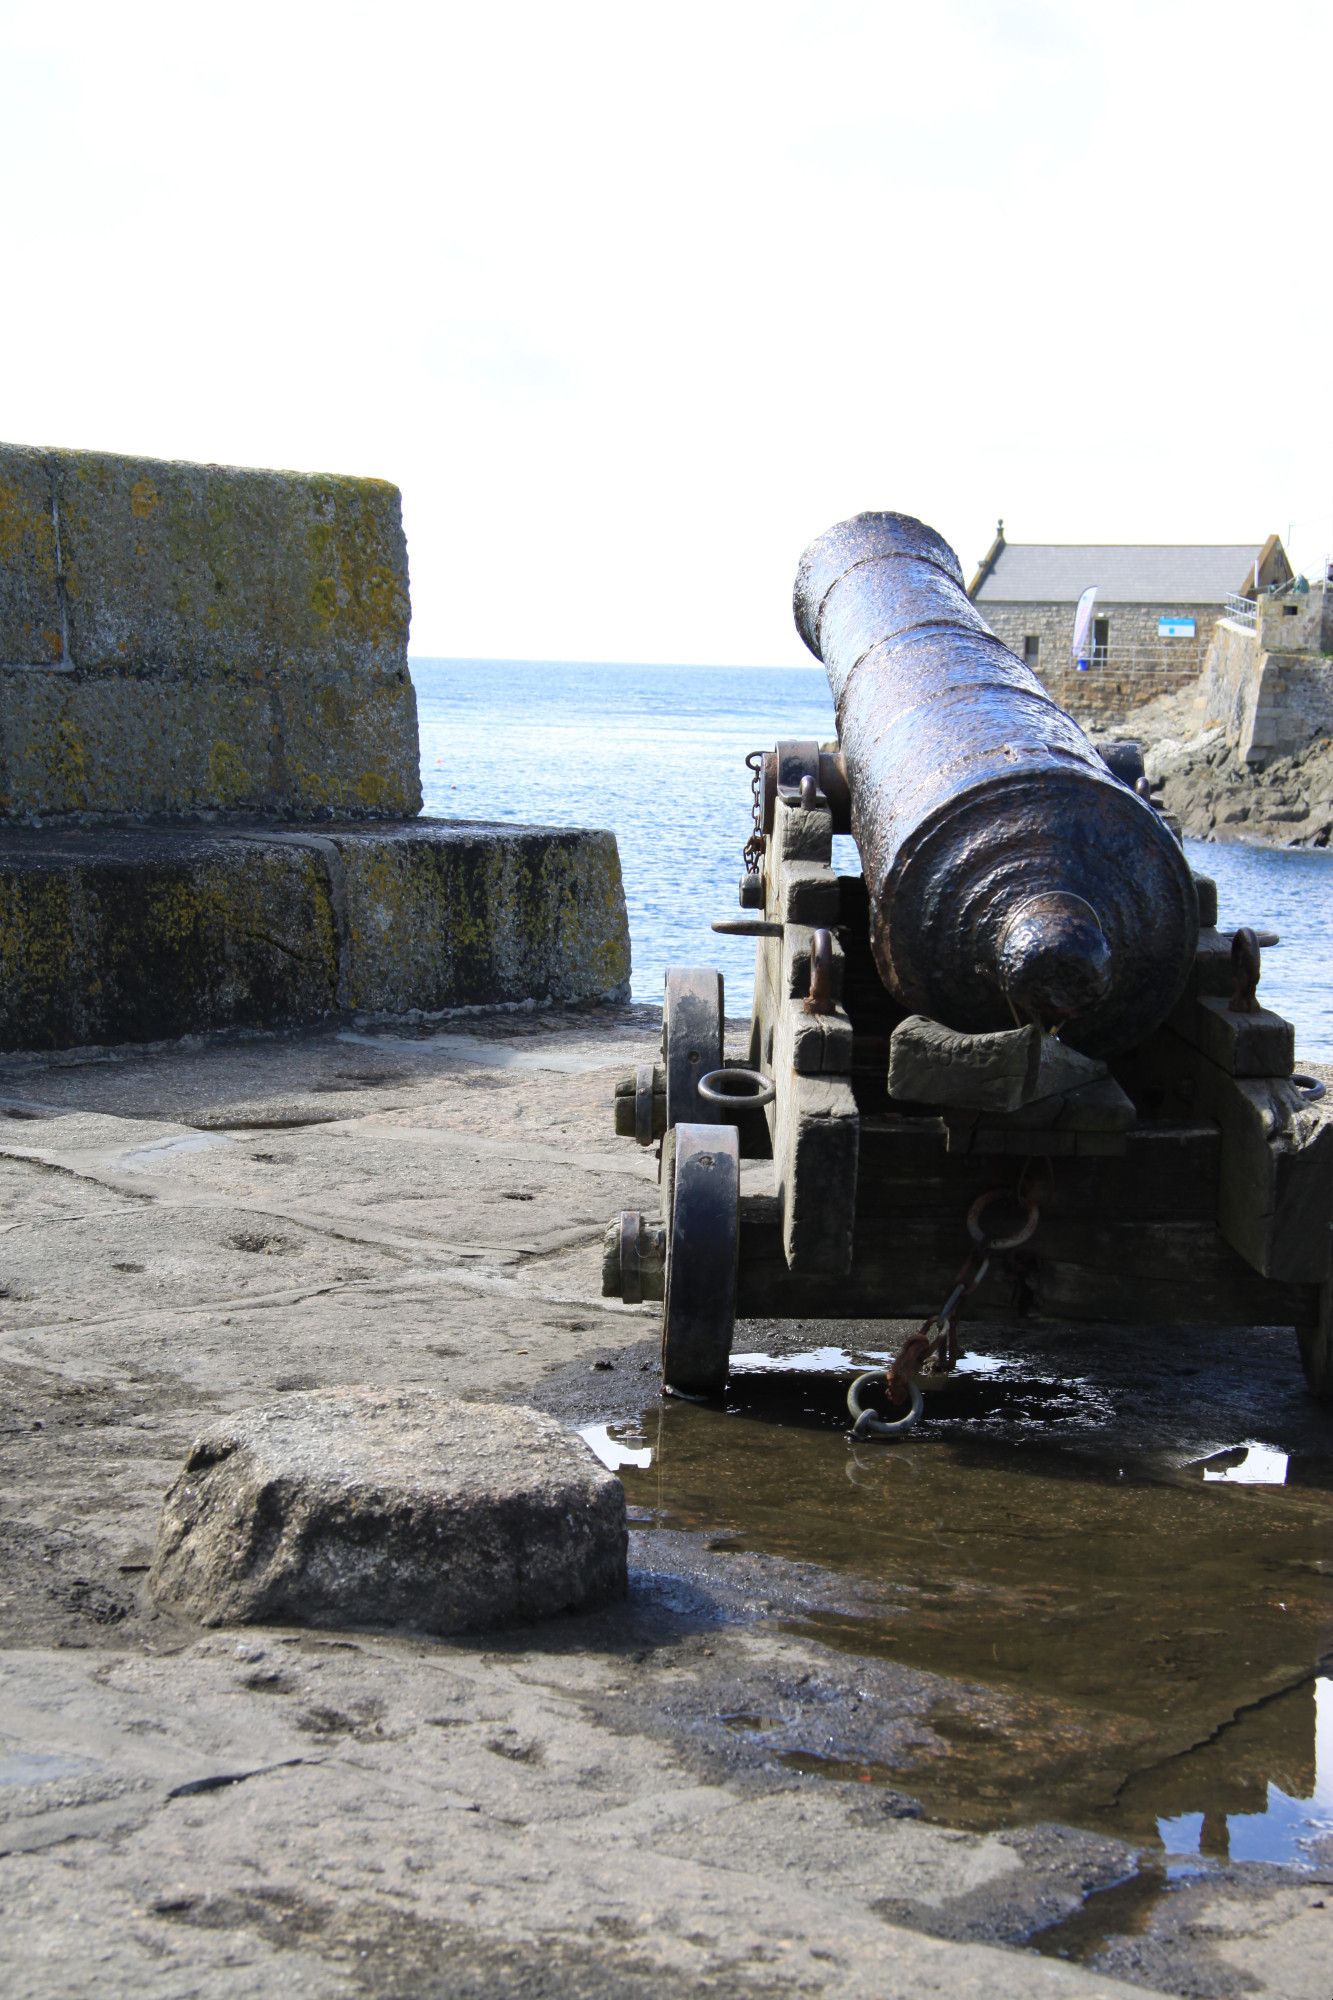
[[[0,436],[396,480],[416,654],[797,662],[869,506],[1311,566],[1331,18],[0,0]]]

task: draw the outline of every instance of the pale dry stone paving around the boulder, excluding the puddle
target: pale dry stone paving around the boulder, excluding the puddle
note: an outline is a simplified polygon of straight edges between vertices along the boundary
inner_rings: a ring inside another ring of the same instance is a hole
[[[729,1596],[735,1556],[640,1552],[622,1606],[484,1638],[152,1604],[162,1496],[210,1420],[348,1380],[650,1396],[656,1314],[600,1298],[600,1234],[652,1206],[608,1134],[656,1038],[644,1008],[514,1010],[0,1062],[6,1992],[1321,1996],[1317,1886],[1181,1884],[1133,1984],[979,1942],[1077,1910],[1123,1848],[747,1760],[721,1716],[933,1696],[787,1630],[771,1572]],[[1271,1400],[1289,1346],[1249,1376],[1201,1356],[1195,1390],[1211,1368]]]

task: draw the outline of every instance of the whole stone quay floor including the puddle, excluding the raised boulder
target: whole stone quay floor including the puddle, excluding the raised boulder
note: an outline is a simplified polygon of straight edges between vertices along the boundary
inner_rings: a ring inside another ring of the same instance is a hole
[[[987,1328],[859,1454],[845,1356],[901,1328],[751,1324],[723,1406],[660,1404],[654,1310],[600,1298],[658,1028],[0,1066],[6,2000],[1329,2000],[1291,1332]],[[454,1638],[158,1606],[190,1442],[338,1382],[614,1444],[628,1596]]]

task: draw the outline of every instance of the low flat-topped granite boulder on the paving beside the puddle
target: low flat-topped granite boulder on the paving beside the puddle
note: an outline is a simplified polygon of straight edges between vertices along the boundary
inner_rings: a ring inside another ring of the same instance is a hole
[[[522,1624],[624,1592],[624,1492],[538,1410],[284,1396],[194,1442],[148,1582],[202,1624]]]

